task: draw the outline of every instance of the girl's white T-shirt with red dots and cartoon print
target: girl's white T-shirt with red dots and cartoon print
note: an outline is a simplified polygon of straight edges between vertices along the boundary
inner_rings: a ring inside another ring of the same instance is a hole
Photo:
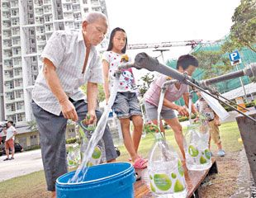
[[[109,77],[109,89],[113,87],[114,83],[114,73],[118,67],[122,63],[121,61],[122,54],[117,54],[112,51],[106,51],[103,54],[102,59],[107,60],[109,64],[108,77]],[[130,57],[129,57],[130,62]],[[138,87],[135,85],[135,77],[132,73],[131,68],[126,68],[122,70],[121,77],[119,80],[119,87],[117,92],[138,92]]]

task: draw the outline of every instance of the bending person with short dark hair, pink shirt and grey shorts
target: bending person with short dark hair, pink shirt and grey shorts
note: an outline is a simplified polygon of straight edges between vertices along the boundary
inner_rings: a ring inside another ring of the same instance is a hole
[[[195,69],[198,67],[198,60],[192,56],[191,54],[182,55],[178,58],[176,69],[180,73],[185,73],[189,76],[192,76]],[[149,120],[152,120],[154,125],[158,125],[157,120],[157,110],[159,106],[159,96],[161,92],[161,87],[169,79],[169,77],[164,74],[159,75],[158,78],[154,79],[154,82],[151,83],[149,90],[145,93],[145,110]],[[188,106],[188,94],[189,87],[187,84],[178,84],[173,83],[166,86],[166,92],[164,95],[164,102],[161,111],[161,117],[164,121],[173,129],[174,136],[178,147],[180,148],[183,158],[185,159],[185,153],[183,148],[183,128],[180,125],[177,116],[175,115],[173,110],[178,111],[179,115],[188,116],[188,111],[186,107],[178,106],[173,103],[173,101],[177,101],[180,97],[183,96],[186,106]],[[192,105],[192,112],[197,113],[196,108]],[[164,132],[164,126],[162,121],[160,122],[160,130]]]

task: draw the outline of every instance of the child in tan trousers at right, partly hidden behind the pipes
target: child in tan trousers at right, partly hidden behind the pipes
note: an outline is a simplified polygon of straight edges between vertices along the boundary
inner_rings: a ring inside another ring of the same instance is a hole
[[[200,99],[196,102],[195,106],[197,111],[206,115],[207,120],[209,121],[209,128],[210,128],[210,139],[209,139],[209,150],[211,150],[211,138],[213,139],[214,143],[217,144],[218,147],[218,156],[224,157],[225,151],[222,150],[221,140],[220,140],[220,119],[219,116],[216,115],[211,109],[211,106],[207,104],[207,102],[201,97],[201,94],[197,92],[198,97]],[[211,153],[212,155],[212,153]]]

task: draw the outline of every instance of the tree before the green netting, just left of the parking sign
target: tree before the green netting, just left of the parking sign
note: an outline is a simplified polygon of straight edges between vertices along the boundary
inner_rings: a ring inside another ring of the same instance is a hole
[[[192,53],[199,61],[198,68],[204,69],[203,79],[214,78],[227,73],[234,66],[221,51],[197,51]]]

